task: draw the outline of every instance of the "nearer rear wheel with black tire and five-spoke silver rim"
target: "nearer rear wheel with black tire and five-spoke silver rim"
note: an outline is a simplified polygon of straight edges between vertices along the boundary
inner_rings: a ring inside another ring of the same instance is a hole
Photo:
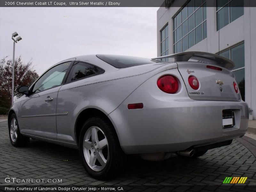
[[[86,172],[96,179],[109,179],[123,167],[122,151],[113,125],[105,118],[92,117],[83,125],[79,152]]]

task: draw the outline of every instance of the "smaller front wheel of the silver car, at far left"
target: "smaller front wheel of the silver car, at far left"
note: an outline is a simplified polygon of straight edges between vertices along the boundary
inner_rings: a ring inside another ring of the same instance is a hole
[[[29,137],[21,135],[18,120],[15,114],[12,114],[8,124],[9,137],[14,147],[22,147],[29,141]]]

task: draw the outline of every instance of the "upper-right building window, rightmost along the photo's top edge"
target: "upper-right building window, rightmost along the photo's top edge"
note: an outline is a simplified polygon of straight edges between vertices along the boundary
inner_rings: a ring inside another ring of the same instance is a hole
[[[244,15],[244,0],[216,0],[217,31]]]

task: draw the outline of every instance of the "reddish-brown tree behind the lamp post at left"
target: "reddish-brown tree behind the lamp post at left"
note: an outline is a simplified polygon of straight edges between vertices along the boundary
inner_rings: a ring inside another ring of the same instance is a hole
[[[32,67],[32,62],[27,64],[21,61],[21,57],[15,60],[14,65],[14,96],[20,97],[18,88],[22,85],[30,86],[38,74]],[[4,57],[0,61],[0,107],[10,108],[12,102],[12,60]]]

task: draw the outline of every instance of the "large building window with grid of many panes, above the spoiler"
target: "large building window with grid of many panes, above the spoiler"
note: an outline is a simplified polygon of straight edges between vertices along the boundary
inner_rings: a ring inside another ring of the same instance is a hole
[[[173,18],[173,53],[184,52],[206,37],[206,1],[190,0]]]

